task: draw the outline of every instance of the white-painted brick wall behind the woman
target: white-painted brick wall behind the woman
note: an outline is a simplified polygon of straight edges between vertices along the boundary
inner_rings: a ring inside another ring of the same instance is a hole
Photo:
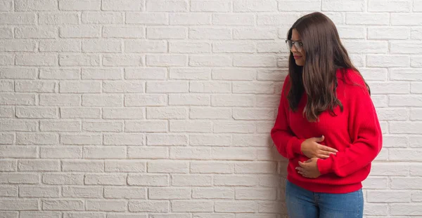
[[[366,218],[422,216],[422,0],[0,0],[0,218],[284,218],[269,130],[322,11],[373,90]]]

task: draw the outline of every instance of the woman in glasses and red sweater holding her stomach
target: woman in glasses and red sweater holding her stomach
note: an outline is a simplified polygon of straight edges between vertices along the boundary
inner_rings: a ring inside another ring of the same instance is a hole
[[[288,158],[290,218],[362,217],[362,181],[381,150],[370,90],[322,13],[288,31],[288,76],[271,137]]]

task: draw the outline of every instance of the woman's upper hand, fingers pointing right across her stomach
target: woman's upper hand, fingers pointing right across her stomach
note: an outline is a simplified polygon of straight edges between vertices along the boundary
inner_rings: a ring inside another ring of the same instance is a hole
[[[337,150],[331,147],[318,143],[322,141],[324,141],[324,135],[321,137],[312,137],[306,139],[300,145],[300,149],[302,153],[305,154],[305,156],[307,156],[308,158],[326,159],[330,156],[330,154],[335,154],[338,152]]]

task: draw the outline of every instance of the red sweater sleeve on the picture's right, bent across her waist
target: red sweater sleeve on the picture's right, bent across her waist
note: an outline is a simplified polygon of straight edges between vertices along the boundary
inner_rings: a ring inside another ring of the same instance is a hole
[[[317,165],[321,174],[334,172],[339,177],[346,177],[369,165],[381,151],[381,126],[369,91],[361,77],[353,80],[359,86],[347,85],[350,87],[347,93],[352,93],[347,102],[352,143],[336,155],[319,159]]]

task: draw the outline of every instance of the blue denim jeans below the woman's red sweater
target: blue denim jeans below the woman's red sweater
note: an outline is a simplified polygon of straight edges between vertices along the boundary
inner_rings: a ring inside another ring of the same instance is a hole
[[[362,189],[350,193],[318,193],[287,182],[286,206],[289,218],[362,218],[364,196]]]

